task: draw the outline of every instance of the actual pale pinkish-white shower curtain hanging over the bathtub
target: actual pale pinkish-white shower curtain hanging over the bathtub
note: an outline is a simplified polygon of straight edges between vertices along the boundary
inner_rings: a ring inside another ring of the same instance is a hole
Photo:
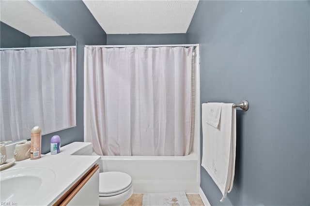
[[[192,49],[85,48],[84,138],[97,154],[189,153]]]

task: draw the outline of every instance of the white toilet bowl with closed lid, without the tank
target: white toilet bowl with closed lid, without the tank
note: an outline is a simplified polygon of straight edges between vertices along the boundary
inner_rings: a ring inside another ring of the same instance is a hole
[[[99,174],[99,205],[121,206],[133,193],[131,177],[123,172]]]

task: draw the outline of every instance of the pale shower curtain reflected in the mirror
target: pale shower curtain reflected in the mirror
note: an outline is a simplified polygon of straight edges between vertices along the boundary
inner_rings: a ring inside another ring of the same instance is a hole
[[[75,48],[0,52],[1,141],[76,126]]]

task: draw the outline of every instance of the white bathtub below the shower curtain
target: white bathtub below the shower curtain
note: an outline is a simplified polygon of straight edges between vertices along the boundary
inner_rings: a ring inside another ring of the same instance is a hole
[[[97,155],[93,152],[93,155]],[[134,192],[198,193],[200,158],[197,153],[171,156],[101,156],[100,172],[120,171],[132,177]]]

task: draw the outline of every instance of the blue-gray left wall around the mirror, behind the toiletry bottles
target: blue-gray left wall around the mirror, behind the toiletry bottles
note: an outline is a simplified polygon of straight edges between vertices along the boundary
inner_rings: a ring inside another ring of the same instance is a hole
[[[44,135],[42,153],[49,152],[50,138],[57,134],[62,146],[83,141],[83,75],[84,46],[106,44],[106,32],[99,26],[82,0],[30,0],[31,3],[58,23],[77,40],[77,127]]]

